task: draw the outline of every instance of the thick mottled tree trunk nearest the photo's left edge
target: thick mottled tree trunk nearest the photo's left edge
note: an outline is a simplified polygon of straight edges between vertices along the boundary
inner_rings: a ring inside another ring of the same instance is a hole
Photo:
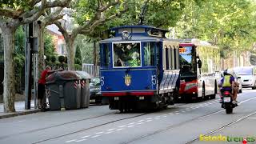
[[[4,111],[15,112],[15,76],[14,76],[14,34],[15,28],[6,26],[2,29],[4,46],[4,82],[3,102]]]

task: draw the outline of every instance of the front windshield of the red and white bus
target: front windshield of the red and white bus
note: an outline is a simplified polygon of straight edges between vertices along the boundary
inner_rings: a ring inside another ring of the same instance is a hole
[[[179,49],[182,75],[196,74],[195,54],[193,51],[192,46],[183,46]]]

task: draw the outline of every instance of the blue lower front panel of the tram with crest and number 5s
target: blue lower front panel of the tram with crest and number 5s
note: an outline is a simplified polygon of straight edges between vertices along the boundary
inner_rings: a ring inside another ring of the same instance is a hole
[[[102,94],[106,92],[156,91],[156,69],[101,70]]]

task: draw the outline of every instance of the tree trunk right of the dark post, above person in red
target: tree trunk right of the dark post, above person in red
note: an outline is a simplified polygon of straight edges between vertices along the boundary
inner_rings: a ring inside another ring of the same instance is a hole
[[[38,78],[41,78],[42,71],[46,68],[44,59],[44,28],[45,26],[38,26]]]

